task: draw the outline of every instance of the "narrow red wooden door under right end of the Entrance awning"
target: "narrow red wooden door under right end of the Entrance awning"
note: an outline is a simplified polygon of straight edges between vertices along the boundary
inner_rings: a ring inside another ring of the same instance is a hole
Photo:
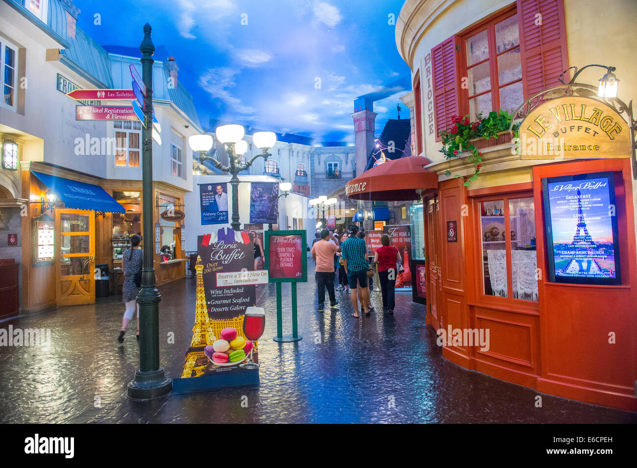
[[[425,230],[426,230],[426,260],[427,260],[427,309],[431,317],[430,323],[434,329],[441,327],[440,308],[440,278],[438,276],[438,259],[440,259],[440,239],[438,238],[438,196],[426,202]]]

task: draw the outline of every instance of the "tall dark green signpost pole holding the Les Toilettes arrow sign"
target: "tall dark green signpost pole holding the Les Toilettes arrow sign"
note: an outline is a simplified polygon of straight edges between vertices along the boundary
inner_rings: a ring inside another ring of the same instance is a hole
[[[155,288],[155,267],[153,263],[154,227],[153,227],[153,63],[155,46],[150,40],[150,24],[144,25],[144,39],[141,41],[141,69],[147,94],[144,116],[146,125],[142,126],[142,216],[144,219],[143,239],[144,257],[141,273],[141,291],[137,295],[140,306],[140,369],[128,384],[128,396],[131,399],[151,399],[166,395],[173,389],[173,380],[164,375],[159,367],[159,301],[161,295]]]

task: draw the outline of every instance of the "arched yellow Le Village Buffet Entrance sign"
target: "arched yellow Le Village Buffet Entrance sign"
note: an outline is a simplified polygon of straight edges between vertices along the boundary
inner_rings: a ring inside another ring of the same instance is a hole
[[[607,104],[569,96],[541,104],[522,120],[520,159],[631,157],[630,129]]]

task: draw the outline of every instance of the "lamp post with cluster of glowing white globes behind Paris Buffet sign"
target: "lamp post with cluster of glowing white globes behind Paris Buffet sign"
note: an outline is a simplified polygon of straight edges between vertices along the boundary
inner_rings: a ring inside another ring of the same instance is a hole
[[[252,135],[252,141],[254,145],[261,150],[261,154],[257,154],[252,157],[252,159],[241,164],[241,156],[243,156],[243,153],[248,149],[248,142],[242,139],[244,133],[243,125],[229,124],[217,127],[217,139],[225,146],[225,152],[228,155],[229,164],[227,166],[224,166],[212,156],[206,155],[206,153],[210,151],[210,148],[212,148],[213,141],[211,135],[192,135],[188,139],[190,149],[199,153],[200,163],[203,164],[204,160],[210,160],[217,169],[232,174],[230,185],[233,187],[233,222],[230,224],[234,230],[240,230],[241,228],[241,223],[239,222],[239,184],[241,181],[237,177],[237,174],[252,166],[252,163],[257,158],[262,157],[264,160],[268,160],[271,156],[268,150],[276,143],[276,134],[274,132],[255,132],[254,135]]]

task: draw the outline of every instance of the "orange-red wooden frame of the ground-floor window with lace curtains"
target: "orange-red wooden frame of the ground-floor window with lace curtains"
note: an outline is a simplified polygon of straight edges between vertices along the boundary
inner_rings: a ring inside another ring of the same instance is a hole
[[[516,187],[517,185],[517,187]],[[528,184],[530,185],[530,184]],[[503,187],[497,187],[501,190]],[[506,186],[504,187],[506,188]],[[511,236],[506,236],[505,250],[506,250],[506,297],[497,295],[489,295],[484,292],[484,264],[482,253],[482,215],[480,211],[480,204],[482,202],[489,201],[503,201],[504,204],[504,218],[505,218],[505,232],[511,232],[511,218],[509,213],[509,201],[520,198],[534,199],[534,193],[532,187],[527,187],[527,184],[515,184],[508,187],[510,190],[495,191],[492,188],[477,189],[473,194],[469,194],[471,199],[471,209],[473,216],[473,245],[474,245],[474,261],[476,265],[476,273],[474,278],[475,283],[475,298],[476,302],[480,306],[492,306],[496,308],[506,308],[513,311],[524,311],[526,308],[532,313],[536,313],[540,309],[540,299],[538,301],[530,301],[528,299],[515,299],[513,297],[513,269],[512,269],[512,249],[511,249]],[[473,190],[472,190],[473,192]],[[535,206],[536,219],[538,208]],[[541,226],[540,226],[541,229]],[[538,239],[538,225],[535,225],[536,239]],[[536,258],[538,250],[536,246]],[[538,268],[540,267],[540,259],[536,260]],[[540,281],[538,280],[538,283]]]

